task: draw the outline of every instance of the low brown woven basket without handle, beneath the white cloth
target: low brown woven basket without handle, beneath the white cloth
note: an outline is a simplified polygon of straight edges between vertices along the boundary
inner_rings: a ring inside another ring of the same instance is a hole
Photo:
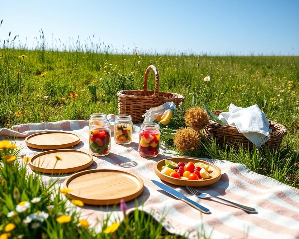
[[[223,112],[221,110],[213,110],[212,113],[217,117]],[[270,150],[277,150],[280,147],[283,137],[287,134],[287,129],[282,125],[274,121],[269,120],[270,129],[270,139],[265,143],[267,148]],[[212,120],[210,123],[203,129],[204,135],[208,140],[211,138],[216,138],[216,142],[222,146],[225,144],[233,145],[234,148],[238,149],[238,143],[243,145],[243,148],[253,149],[254,145],[247,138],[240,134],[236,127],[218,124]],[[264,146],[263,146],[264,147]]]

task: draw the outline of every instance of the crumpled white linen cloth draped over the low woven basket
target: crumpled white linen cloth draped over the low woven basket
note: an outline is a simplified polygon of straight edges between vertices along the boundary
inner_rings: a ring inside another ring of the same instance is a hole
[[[270,139],[272,130],[269,128],[269,120],[258,105],[242,108],[230,104],[229,112],[222,112],[218,119],[225,124],[234,126],[239,133],[260,148]]]

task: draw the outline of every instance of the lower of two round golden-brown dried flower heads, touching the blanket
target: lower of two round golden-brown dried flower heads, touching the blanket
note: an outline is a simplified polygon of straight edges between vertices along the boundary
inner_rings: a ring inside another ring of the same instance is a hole
[[[201,145],[200,133],[192,128],[179,128],[173,136],[173,144],[182,152],[193,151]]]

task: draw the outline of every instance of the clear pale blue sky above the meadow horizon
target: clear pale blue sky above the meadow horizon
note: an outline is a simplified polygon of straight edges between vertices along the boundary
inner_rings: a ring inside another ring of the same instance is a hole
[[[299,55],[299,1],[2,1],[0,39],[9,31],[32,47],[45,33],[121,51]],[[27,37],[27,40],[26,40]],[[294,48],[294,50],[293,50]]]

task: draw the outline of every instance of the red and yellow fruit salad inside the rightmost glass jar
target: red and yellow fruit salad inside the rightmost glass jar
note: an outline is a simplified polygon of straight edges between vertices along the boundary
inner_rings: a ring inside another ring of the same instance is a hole
[[[159,154],[160,136],[160,133],[141,131],[139,154],[143,157],[156,157]]]

